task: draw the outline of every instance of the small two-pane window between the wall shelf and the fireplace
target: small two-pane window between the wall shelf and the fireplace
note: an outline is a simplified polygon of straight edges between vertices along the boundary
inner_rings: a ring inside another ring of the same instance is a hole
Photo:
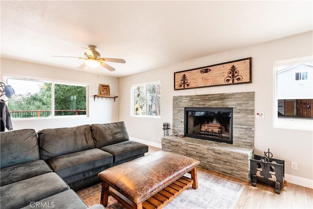
[[[132,85],[132,116],[160,116],[160,81]]]

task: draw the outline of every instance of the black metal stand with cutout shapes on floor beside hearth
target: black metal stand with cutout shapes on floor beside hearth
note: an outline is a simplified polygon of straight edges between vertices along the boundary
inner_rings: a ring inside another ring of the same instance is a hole
[[[274,186],[277,194],[286,184],[285,178],[285,161],[272,158],[271,152],[264,152],[264,156],[254,155],[250,159],[250,177],[252,186],[257,182],[262,182]]]

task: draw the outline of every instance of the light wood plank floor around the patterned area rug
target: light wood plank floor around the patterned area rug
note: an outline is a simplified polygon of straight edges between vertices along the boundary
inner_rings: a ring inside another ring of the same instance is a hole
[[[153,153],[159,148],[149,146],[149,152]],[[223,174],[198,168],[203,172],[218,176],[242,185],[245,188],[239,197],[235,209],[312,209],[313,208],[313,189],[304,186],[298,186],[287,183],[287,186],[281,190],[280,194],[274,192],[274,188],[268,185],[257,183],[257,186],[251,186],[251,183],[241,181]]]

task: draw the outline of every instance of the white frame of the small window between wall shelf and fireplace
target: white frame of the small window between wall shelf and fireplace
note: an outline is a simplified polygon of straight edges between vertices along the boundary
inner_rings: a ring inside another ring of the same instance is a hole
[[[144,117],[144,118],[156,118],[159,119],[161,118],[161,88],[160,88],[160,115],[158,116],[153,116],[153,115],[135,115],[134,114],[134,88],[138,87],[138,86],[145,86],[146,90],[147,90],[147,86],[148,85],[156,85],[159,84],[161,86],[161,81],[157,80],[157,81],[152,81],[152,82],[145,82],[145,83],[139,83],[139,84],[132,84],[131,85],[131,116],[132,117]],[[146,95],[146,100],[147,100],[147,91],[145,93]],[[147,102],[146,102],[146,112],[147,112]]]

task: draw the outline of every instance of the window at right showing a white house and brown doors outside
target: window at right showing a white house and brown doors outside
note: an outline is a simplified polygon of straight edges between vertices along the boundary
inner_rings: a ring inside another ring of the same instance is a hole
[[[274,62],[274,127],[313,129],[313,58]]]

